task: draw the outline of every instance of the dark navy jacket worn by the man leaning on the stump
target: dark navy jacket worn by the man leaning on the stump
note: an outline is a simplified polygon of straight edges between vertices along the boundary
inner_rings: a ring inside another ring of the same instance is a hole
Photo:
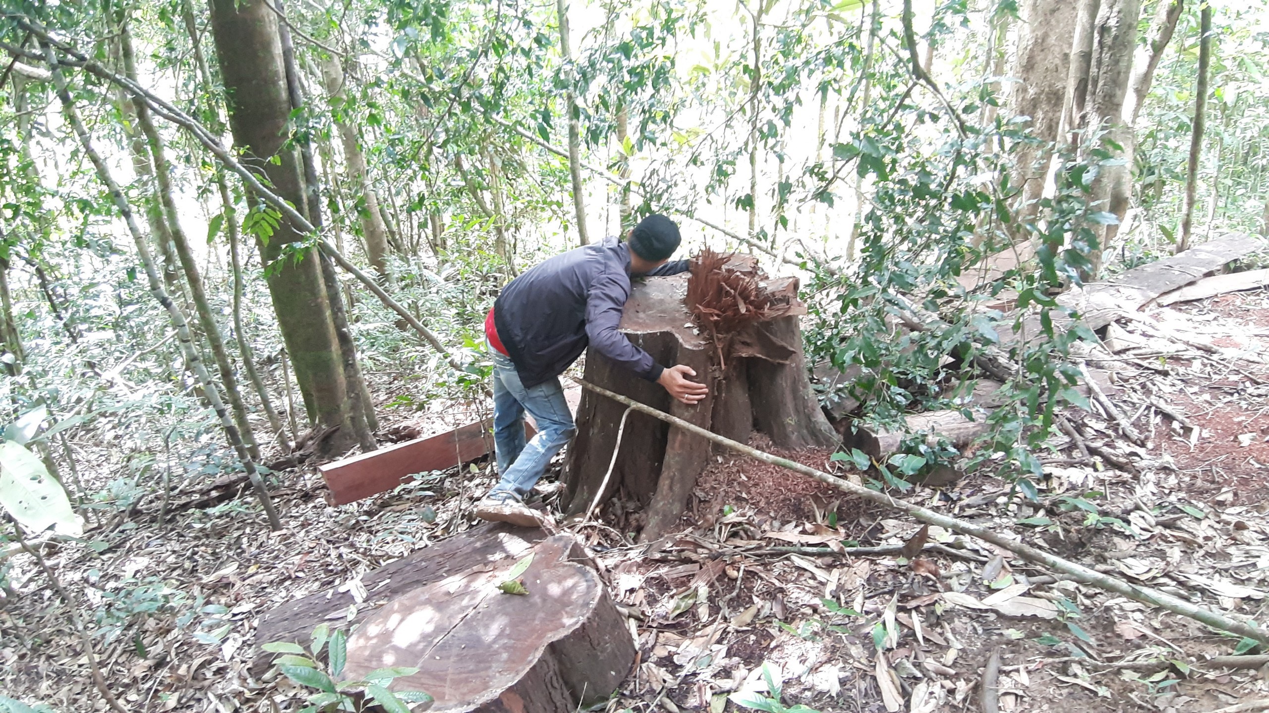
[[[674,260],[647,275],[687,270],[687,260]],[[664,367],[617,330],[629,296],[629,246],[608,239],[556,255],[511,280],[494,302],[494,327],[525,388],[562,374],[588,344],[656,381]]]

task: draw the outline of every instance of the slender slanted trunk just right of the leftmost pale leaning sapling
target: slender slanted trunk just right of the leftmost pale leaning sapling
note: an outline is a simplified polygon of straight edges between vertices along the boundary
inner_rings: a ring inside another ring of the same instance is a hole
[[[132,53],[132,37],[123,23],[119,24],[119,43],[123,49],[126,76],[136,81],[137,67]],[[145,101],[133,101],[133,114],[137,117],[137,124],[141,127],[141,132],[150,146],[150,157],[154,161],[155,176],[159,181],[157,193],[164,211],[164,222],[168,225],[168,233],[171,236],[173,245],[176,249],[176,258],[180,260],[180,266],[185,271],[185,280],[189,284],[198,321],[212,349],[212,358],[216,360],[217,370],[220,370],[221,383],[225,384],[225,395],[228,398],[230,409],[233,411],[233,422],[237,425],[242,442],[246,444],[247,453],[251,454],[251,458],[259,461],[260,447],[256,445],[255,434],[247,420],[246,405],[242,403],[242,393],[237,386],[237,376],[233,373],[228,351],[225,349],[225,337],[221,334],[221,327],[212,313],[211,303],[207,301],[207,289],[203,285],[203,275],[198,270],[198,263],[194,260],[194,251],[190,249],[189,240],[185,237],[185,230],[180,225],[180,212],[173,197],[171,170],[168,164],[162,137],[150,119],[150,109]]]

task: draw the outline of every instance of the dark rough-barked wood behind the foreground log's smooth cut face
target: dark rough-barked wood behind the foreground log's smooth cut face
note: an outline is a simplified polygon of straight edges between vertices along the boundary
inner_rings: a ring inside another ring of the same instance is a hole
[[[497,563],[515,562],[544,537],[537,528],[514,528],[504,523],[478,525],[365,572],[359,587],[331,587],[266,612],[255,631],[256,644],[291,642],[307,646],[317,624],[331,624],[339,619],[340,625],[345,622],[359,625],[377,609],[406,592],[473,567],[491,568]],[[258,657],[253,672],[263,675],[270,660],[272,655]]]

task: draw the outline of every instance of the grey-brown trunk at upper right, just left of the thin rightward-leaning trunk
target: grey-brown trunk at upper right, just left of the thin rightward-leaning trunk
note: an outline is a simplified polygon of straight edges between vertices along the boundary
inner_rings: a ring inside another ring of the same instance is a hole
[[[1132,198],[1132,127],[1123,122],[1123,105],[1132,74],[1132,55],[1137,47],[1137,20],[1141,0],[1105,0],[1094,24],[1093,63],[1089,70],[1089,121],[1088,126],[1100,127],[1107,133],[1103,146],[1124,164],[1103,165],[1093,183],[1093,199],[1098,211],[1113,213],[1123,221]],[[1108,141],[1118,143],[1115,150]],[[1115,239],[1118,225],[1103,225],[1098,232],[1098,245],[1089,252],[1091,265],[1085,279],[1094,279],[1101,268],[1101,254]]]

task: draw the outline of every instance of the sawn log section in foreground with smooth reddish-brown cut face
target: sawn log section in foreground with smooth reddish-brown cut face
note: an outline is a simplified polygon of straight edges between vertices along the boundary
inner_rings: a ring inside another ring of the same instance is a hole
[[[571,535],[532,557],[519,576],[503,559],[396,598],[349,638],[343,677],[415,667],[391,688],[430,694],[433,712],[571,713],[607,699],[634,662],[626,619]],[[503,591],[508,581],[524,592]]]

